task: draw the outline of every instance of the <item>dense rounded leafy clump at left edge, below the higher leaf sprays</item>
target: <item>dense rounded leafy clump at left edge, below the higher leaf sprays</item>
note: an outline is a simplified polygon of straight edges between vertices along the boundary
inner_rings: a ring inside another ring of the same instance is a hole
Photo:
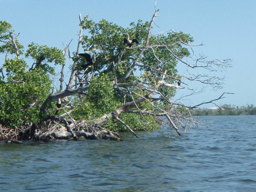
[[[7,60],[7,81],[0,80],[0,123],[7,127],[39,122],[39,106],[51,89],[47,74],[26,66],[24,60]]]

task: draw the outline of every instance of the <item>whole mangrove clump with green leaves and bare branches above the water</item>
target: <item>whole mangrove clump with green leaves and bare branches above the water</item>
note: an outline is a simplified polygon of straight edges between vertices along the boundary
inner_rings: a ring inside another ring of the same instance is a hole
[[[57,132],[66,131],[66,136],[75,140],[79,136],[120,140],[118,131],[128,130],[138,137],[136,130],[168,124],[181,135],[180,129],[195,124],[191,114],[184,115],[180,108],[193,109],[207,102],[186,106],[181,100],[184,96],[176,101],[173,96],[177,89],[190,89],[193,81],[222,88],[224,79],[209,73],[231,67],[231,60],[208,61],[204,55],[195,56],[193,47],[202,44],[194,45],[193,37],[181,31],[152,35],[158,11],[149,22],[138,20],[129,28],[79,14],[76,51],[69,49],[72,40],[63,50],[34,42],[24,50],[12,25],[0,21],[0,53],[5,54],[0,66],[1,137],[9,133],[16,139],[52,139],[58,138]],[[124,38],[136,39],[138,44],[130,47]],[[95,62],[88,65],[78,53],[90,54]],[[10,55],[15,57],[9,59]],[[66,59],[73,64],[67,66]],[[178,64],[188,68],[187,76],[177,71]],[[67,69],[69,79],[63,75]],[[52,76],[58,76],[58,88]],[[61,107],[56,108],[57,101]]]

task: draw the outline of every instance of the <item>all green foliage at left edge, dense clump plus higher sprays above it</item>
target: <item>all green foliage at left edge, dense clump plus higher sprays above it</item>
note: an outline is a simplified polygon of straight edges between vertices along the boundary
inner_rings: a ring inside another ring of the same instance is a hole
[[[1,53],[16,54],[10,36],[12,34],[19,53],[23,54],[23,45],[19,44],[13,32],[10,23],[0,21]],[[52,88],[49,73],[54,74],[54,68],[41,62],[55,61],[55,64],[64,64],[65,61],[62,51],[57,48],[34,43],[28,47],[26,56],[32,57],[38,68],[28,70],[26,61],[18,57],[6,59],[2,68],[5,71],[0,78],[0,124],[10,128],[18,127],[24,122],[41,121],[39,109]]]

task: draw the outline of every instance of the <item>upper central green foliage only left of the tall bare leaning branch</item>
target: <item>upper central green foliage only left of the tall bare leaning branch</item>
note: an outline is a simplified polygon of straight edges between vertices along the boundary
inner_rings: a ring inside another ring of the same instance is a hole
[[[143,23],[141,20],[135,25],[131,23],[132,28],[122,28],[116,24],[102,19],[99,23],[95,23],[86,16],[83,20],[84,29],[88,31],[88,35],[83,36],[82,47],[86,51],[93,52],[99,56],[98,62],[95,64],[95,70],[102,70],[104,73],[113,75],[113,61],[117,61],[118,55],[124,50],[124,37],[127,38],[128,32],[131,38],[137,38],[142,44],[147,35],[148,22]],[[127,50],[123,59],[129,61],[129,57],[135,57],[139,50]],[[124,63],[123,63],[124,64]],[[124,66],[119,66],[119,69]],[[129,67],[126,63],[125,67]],[[118,71],[119,72],[119,71]],[[124,71],[120,71],[120,75]],[[118,73],[119,75],[119,73]]]

